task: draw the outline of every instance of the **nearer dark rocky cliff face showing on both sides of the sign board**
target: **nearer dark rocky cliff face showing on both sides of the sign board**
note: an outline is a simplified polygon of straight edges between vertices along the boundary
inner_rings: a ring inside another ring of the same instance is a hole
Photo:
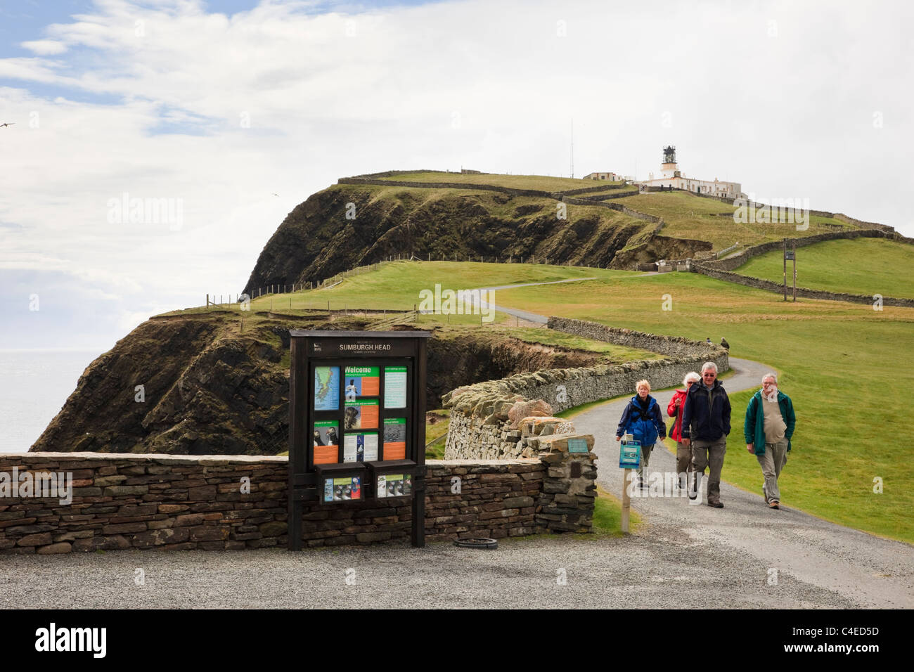
[[[339,316],[259,313],[246,317],[241,332],[239,314],[228,311],[153,318],[86,368],[30,450],[282,453],[289,438],[289,329],[368,326]],[[484,332],[436,335],[426,402],[440,408],[441,394],[462,385],[598,358]]]

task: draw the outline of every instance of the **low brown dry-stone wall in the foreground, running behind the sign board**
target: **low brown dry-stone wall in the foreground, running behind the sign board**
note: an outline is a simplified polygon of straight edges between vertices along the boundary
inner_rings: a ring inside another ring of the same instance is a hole
[[[426,539],[589,531],[596,495],[591,457],[552,448],[525,460],[429,461]],[[574,461],[587,464],[582,475],[569,478]],[[37,473],[71,474],[72,501],[60,504],[58,493],[11,496],[14,469],[31,479]],[[250,494],[241,492],[243,477],[250,478]],[[454,477],[461,479],[456,494]],[[0,453],[4,486],[0,552],[5,553],[284,548],[288,540],[286,457]],[[557,502],[569,492],[576,493],[573,502]],[[408,501],[306,504],[304,545],[405,541],[410,521]]]

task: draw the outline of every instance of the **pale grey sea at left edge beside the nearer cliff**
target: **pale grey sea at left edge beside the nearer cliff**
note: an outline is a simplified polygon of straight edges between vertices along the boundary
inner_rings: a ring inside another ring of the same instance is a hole
[[[102,352],[0,348],[0,453],[26,453]]]

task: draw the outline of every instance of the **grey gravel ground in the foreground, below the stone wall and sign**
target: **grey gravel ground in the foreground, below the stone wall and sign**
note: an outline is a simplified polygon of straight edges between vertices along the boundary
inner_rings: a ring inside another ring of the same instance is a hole
[[[629,539],[511,539],[498,549],[430,544],[250,551],[3,556],[5,608],[852,607],[713,539],[652,526]],[[144,585],[134,578],[144,571]],[[559,580],[564,570],[565,583]],[[348,575],[347,575],[348,572]],[[347,583],[347,578],[349,583]],[[27,599],[24,597],[27,596]],[[357,602],[356,602],[357,600]]]

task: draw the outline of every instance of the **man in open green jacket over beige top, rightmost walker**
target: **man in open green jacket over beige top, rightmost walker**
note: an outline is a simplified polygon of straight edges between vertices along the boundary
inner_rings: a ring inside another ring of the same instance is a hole
[[[766,373],[761,378],[761,389],[752,395],[746,407],[746,450],[755,454],[765,476],[761,492],[771,508],[781,508],[781,489],[778,477],[787,463],[791,450],[796,415],[791,398],[778,389],[778,377]]]

